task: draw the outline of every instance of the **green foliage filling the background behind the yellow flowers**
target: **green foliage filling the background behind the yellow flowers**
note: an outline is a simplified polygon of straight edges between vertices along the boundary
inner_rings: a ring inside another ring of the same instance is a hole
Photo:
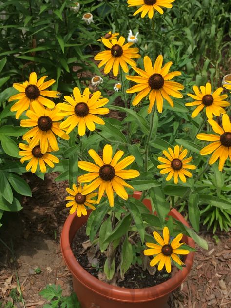
[[[93,56],[101,49],[101,43],[97,39],[110,30],[119,32],[125,37],[129,29],[134,33],[138,31],[138,47],[142,58],[145,55],[152,56],[149,19],[134,17],[135,8],[128,8],[127,1],[82,0],[79,3],[80,10],[75,13],[71,10],[72,1],[69,0],[0,1],[0,60],[3,61],[0,72],[0,187],[3,185],[7,187],[0,191],[0,218],[3,210],[21,209],[17,194],[30,195],[25,181],[22,179],[20,181],[17,177],[25,172],[24,166],[19,160],[15,160],[19,157],[16,145],[19,143],[19,137],[24,134],[24,129],[19,128],[19,121],[15,120],[10,112],[13,103],[7,102],[9,96],[16,93],[12,88],[13,82],[22,82],[28,79],[30,72],[36,71],[39,76],[48,75],[56,79],[57,82],[52,89],[58,89],[62,95],[72,92],[75,86],[83,89],[89,85],[90,77],[102,76],[93,61]],[[162,53],[165,61],[173,61],[173,70],[182,72],[178,81],[184,84],[185,94],[192,92],[194,84],[204,85],[208,80],[214,88],[221,86],[222,77],[230,73],[230,10],[230,1],[178,0],[173,3],[171,10],[166,10],[168,14],[155,14],[157,54]],[[82,15],[88,12],[93,14],[95,21],[90,25],[82,20]],[[140,65],[141,60],[137,63]],[[104,83],[99,88],[103,96],[108,96],[108,90],[113,89],[115,82],[109,79],[109,76],[104,77]],[[128,81],[126,86],[129,86]],[[114,93],[109,97],[110,108],[125,111],[123,107],[112,105],[119,95],[120,93]],[[195,155],[193,163],[198,166],[195,177],[198,181],[195,183],[193,179],[189,179],[187,183],[175,186],[149,172],[141,174],[139,180],[142,183],[137,181],[134,187],[152,188],[153,196],[161,198],[166,194],[169,195],[168,201],[173,201],[174,198],[174,205],[180,206],[180,211],[188,212],[195,230],[199,230],[196,221],[199,221],[200,210],[202,217],[204,212],[207,220],[210,217],[209,226],[215,221],[214,226],[219,224],[221,229],[228,230],[231,222],[228,207],[231,187],[229,167],[224,168],[224,173],[217,173],[216,165],[216,169],[206,165],[205,170],[200,172],[207,161],[207,157],[199,156],[202,143],[195,140],[202,117],[201,115],[195,119],[190,117],[190,109],[184,106],[187,101],[189,100],[185,98],[175,99],[174,111],[167,104],[164,105],[164,112],[159,115],[158,121],[156,119],[154,127],[153,136],[158,124],[157,135],[151,142],[150,165],[156,167],[157,157],[161,155],[161,151],[171,144],[178,143],[191,151],[193,156]],[[124,123],[131,122],[134,138],[142,140],[148,130],[147,118],[145,119],[146,106],[147,103],[142,103],[134,109],[135,112],[130,111],[123,122],[107,119],[102,133],[111,140],[124,142],[125,136],[118,132],[124,129]],[[227,112],[229,113],[230,109]],[[3,125],[7,125],[8,129],[1,134],[1,130],[4,130]],[[104,140],[98,135],[89,135],[88,138],[82,138],[82,143],[83,150],[87,153],[89,144],[97,151],[102,148]],[[70,149],[64,152],[66,148],[68,143],[62,141],[58,154],[63,159],[54,169],[61,173],[58,180],[68,178],[66,170]],[[123,150],[123,146],[120,148]],[[79,145],[72,150],[83,158]],[[124,150],[127,151],[126,148]],[[128,150],[135,156],[136,164],[134,163],[133,167],[142,168],[142,144],[133,144]],[[157,169],[156,173],[158,174]],[[77,174],[76,164],[74,176]],[[42,176],[39,173],[38,175]],[[17,183],[13,184],[12,178],[15,181],[18,179]],[[156,180],[161,181],[161,189],[155,187]],[[23,193],[21,186],[24,189]],[[189,202],[186,201],[186,196],[190,196]],[[164,216],[164,211],[167,211],[165,205],[160,205],[160,216]],[[193,217],[197,220],[193,220]]]

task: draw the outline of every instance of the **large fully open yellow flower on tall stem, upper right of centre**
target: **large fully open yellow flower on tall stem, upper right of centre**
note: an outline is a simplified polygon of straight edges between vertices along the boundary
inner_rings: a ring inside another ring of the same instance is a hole
[[[156,101],[158,112],[163,110],[163,98],[167,100],[171,107],[174,106],[170,96],[182,98],[182,94],[178,90],[184,89],[180,83],[175,81],[170,81],[173,77],[181,75],[180,72],[175,71],[169,73],[169,69],[173,62],[166,63],[163,68],[163,56],[159,55],[153,66],[151,59],[148,56],[144,57],[144,69],[133,67],[134,71],[140,76],[126,76],[128,80],[132,80],[137,85],[128,89],[127,93],[137,94],[132,102],[133,106],[136,106],[142,98],[149,94],[149,108],[148,113],[151,113],[154,103]]]

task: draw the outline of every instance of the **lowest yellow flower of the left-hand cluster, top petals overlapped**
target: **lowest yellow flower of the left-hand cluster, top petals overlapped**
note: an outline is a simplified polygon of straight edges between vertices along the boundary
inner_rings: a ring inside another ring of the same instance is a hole
[[[29,171],[31,169],[31,172],[35,173],[39,165],[40,171],[42,173],[45,173],[46,164],[51,168],[54,168],[54,163],[59,163],[59,159],[56,156],[50,154],[50,152],[52,151],[50,147],[48,147],[47,151],[44,154],[41,153],[39,145],[30,147],[29,145],[26,145],[24,143],[19,143],[19,148],[23,150],[19,151],[19,155],[23,156],[20,159],[20,162],[23,164],[26,160],[29,160],[28,164],[26,165],[26,171]]]

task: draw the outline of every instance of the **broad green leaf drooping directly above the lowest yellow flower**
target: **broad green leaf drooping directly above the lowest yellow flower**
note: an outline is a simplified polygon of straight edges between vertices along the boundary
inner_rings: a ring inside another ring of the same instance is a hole
[[[165,218],[170,211],[170,203],[165,200],[163,188],[153,187],[149,190],[149,195],[160,221],[164,223]]]

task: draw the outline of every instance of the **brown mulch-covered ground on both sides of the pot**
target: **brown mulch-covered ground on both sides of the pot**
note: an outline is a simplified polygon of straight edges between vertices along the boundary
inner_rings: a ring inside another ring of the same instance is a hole
[[[65,266],[59,246],[62,225],[68,215],[65,208],[65,182],[55,182],[57,174],[46,174],[45,180],[28,173],[33,197],[24,197],[23,210],[7,213],[0,229],[0,303],[12,301],[10,290],[19,277],[25,306],[42,308],[46,301],[39,292],[47,284],[59,284],[63,295],[72,291],[72,278]],[[209,250],[198,248],[188,279],[170,297],[170,308],[231,307],[231,232],[200,234]],[[13,255],[12,255],[13,252]],[[36,274],[35,269],[41,273]],[[15,303],[18,308],[21,303]]]

